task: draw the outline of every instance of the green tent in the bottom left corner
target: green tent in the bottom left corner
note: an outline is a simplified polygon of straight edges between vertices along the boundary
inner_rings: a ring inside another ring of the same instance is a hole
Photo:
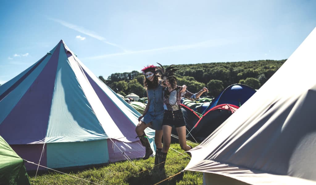
[[[30,184],[23,159],[0,136],[0,184]]]

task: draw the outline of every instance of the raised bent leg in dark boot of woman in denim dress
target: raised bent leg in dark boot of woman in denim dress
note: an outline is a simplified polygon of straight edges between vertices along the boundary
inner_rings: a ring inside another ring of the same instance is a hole
[[[143,121],[139,121],[135,129],[140,142],[142,143],[143,146],[145,146],[145,149],[146,149],[143,160],[148,159],[149,156],[153,154],[153,150],[151,150],[150,148],[149,140],[144,132],[144,130],[149,126],[149,124],[145,124]]]

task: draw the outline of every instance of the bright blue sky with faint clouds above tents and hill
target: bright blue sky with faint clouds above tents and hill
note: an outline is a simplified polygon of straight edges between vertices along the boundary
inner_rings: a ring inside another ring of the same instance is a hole
[[[0,84],[59,40],[97,76],[156,64],[287,59],[315,0],[0,1]]]

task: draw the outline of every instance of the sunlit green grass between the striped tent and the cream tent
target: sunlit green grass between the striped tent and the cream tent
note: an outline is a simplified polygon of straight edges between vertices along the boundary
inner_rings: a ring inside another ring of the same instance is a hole
[[[196,146],[196,145],[194,145]],[[109,163],[106,166],[86,169],[76,172],[69,172],[67,174],[85,179],[97,184],[155,184],[169,176],[177,174],[185,168],[189,163],[190,158],[188,154],[179,155],[178,152],[183,153],[179,144],[171,144],[167,155],[165,171],[157,172],[153,170],[155,157],[150,157],[148,160],[132,160],[136,167],[129,161]],[[62,174],[59,172],[48,172],[46,174],[30,176],[31,184],[93,184],[84,180]],[[203,174],[201,172],[185,171],[177,176],[174,176],[160,184],[178,184],[178,185],[193,185],[202,184]]]

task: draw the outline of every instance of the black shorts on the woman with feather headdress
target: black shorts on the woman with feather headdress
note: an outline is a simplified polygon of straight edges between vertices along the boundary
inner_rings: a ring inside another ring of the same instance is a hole
[[[185,120],[183,117],[182,110],[165,110],[165,113],[163,114],[162,125],[169,125],[171,127],[174,126],[176,128],[185,126]]]

